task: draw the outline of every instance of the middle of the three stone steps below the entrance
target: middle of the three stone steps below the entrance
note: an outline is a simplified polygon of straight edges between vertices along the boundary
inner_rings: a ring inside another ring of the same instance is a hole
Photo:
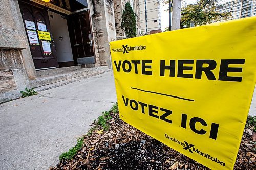
[[[101,66],[101,67],[94,67],[94,68],[82,68],[78,70],[72,70],[68,72],[61,72],[59,74],[52,74],[52,75],[47,75],[47,76],[41,76],[38,77],[35,80],[30,81],[30,86],[31,87],[41,87],[41,86],[46,86],[50,85],[53,83],[61,82],[61,81],[68,81],[71,79],[81,77],[83,78],[86,75],[90,74],[100,74],[101,72],[109,70],[108,66]],[[64,82],[62,82],[64,83]]]

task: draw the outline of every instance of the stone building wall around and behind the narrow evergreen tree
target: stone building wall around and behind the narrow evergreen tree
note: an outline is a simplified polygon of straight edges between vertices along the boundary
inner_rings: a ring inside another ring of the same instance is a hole
[[[140,31],[140,6],[139,0],[114,0],[114,11],[115,11],[115,27],[117,40],[125,37],[125,32],[121,28],[122,12],[125,8],[125,4],[129,2],[136,17],[136,34],[137,37],[141,35]]]

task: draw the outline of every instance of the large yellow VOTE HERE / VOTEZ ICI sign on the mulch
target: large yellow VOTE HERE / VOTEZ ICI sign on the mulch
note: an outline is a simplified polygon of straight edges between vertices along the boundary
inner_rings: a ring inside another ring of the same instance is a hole
[[[256,81],[256,17],[111,42],[120,118],[232,169]]]

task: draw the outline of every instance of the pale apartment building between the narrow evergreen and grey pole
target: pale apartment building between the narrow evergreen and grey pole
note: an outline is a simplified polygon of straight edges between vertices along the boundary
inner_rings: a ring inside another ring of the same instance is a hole
[[[143,34],[161,29],[160,0],[139,0],[140,27]]]

